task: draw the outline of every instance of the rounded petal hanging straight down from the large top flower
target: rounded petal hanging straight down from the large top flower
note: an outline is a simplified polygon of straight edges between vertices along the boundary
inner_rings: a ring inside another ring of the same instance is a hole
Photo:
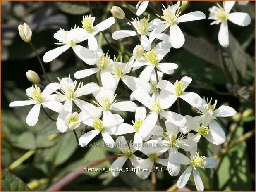
[[[170,40],[172,47],[175,49],[182,47],[185,43],[184,35],[177,24],[172,24],[170,26]]]

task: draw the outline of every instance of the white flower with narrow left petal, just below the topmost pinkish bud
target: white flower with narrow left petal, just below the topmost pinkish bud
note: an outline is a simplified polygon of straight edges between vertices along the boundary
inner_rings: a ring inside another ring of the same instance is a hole
[[[154,19],[153,21],[149,22],[149,15],[148,19],[145,17],[143,19],[133,19],[132,18],[132,24],[139,33],[141,37],[141,45],[144,47],[144,50],[149,51],[151,49],[151,43],[149,42],[147,36],[150,35],[150,32],[158,26],[158,23],[160,22],[160,19]],[[112,38],[117,40],[125,37],[131,37],[131,36],[136,36],[135,31],[131,30],[120,30],[120,31],[115,31],[112,34]]]

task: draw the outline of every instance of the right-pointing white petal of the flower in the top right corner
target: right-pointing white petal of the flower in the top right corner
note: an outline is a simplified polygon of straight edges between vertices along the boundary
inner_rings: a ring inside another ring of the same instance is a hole
[[[230,13],[227,19],[242,27],[251,23],[251,17],[248,13]]]

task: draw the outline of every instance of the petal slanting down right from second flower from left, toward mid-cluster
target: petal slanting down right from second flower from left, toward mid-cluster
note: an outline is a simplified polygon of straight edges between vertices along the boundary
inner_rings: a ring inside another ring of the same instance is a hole
[[[80,100],[78,98],[75,98],[74,103],[79,107],[82,111],[85,111],[90,116],[101,116],[101,111],[97,107],[95,107],[93,104],[88,103],[86,101]]]

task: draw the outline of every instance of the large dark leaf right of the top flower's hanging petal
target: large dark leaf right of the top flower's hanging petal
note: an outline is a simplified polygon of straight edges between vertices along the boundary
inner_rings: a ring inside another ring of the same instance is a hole
[[[221,67],[218,48],[205,39],[187,35],[183,48],[210,64]]]

